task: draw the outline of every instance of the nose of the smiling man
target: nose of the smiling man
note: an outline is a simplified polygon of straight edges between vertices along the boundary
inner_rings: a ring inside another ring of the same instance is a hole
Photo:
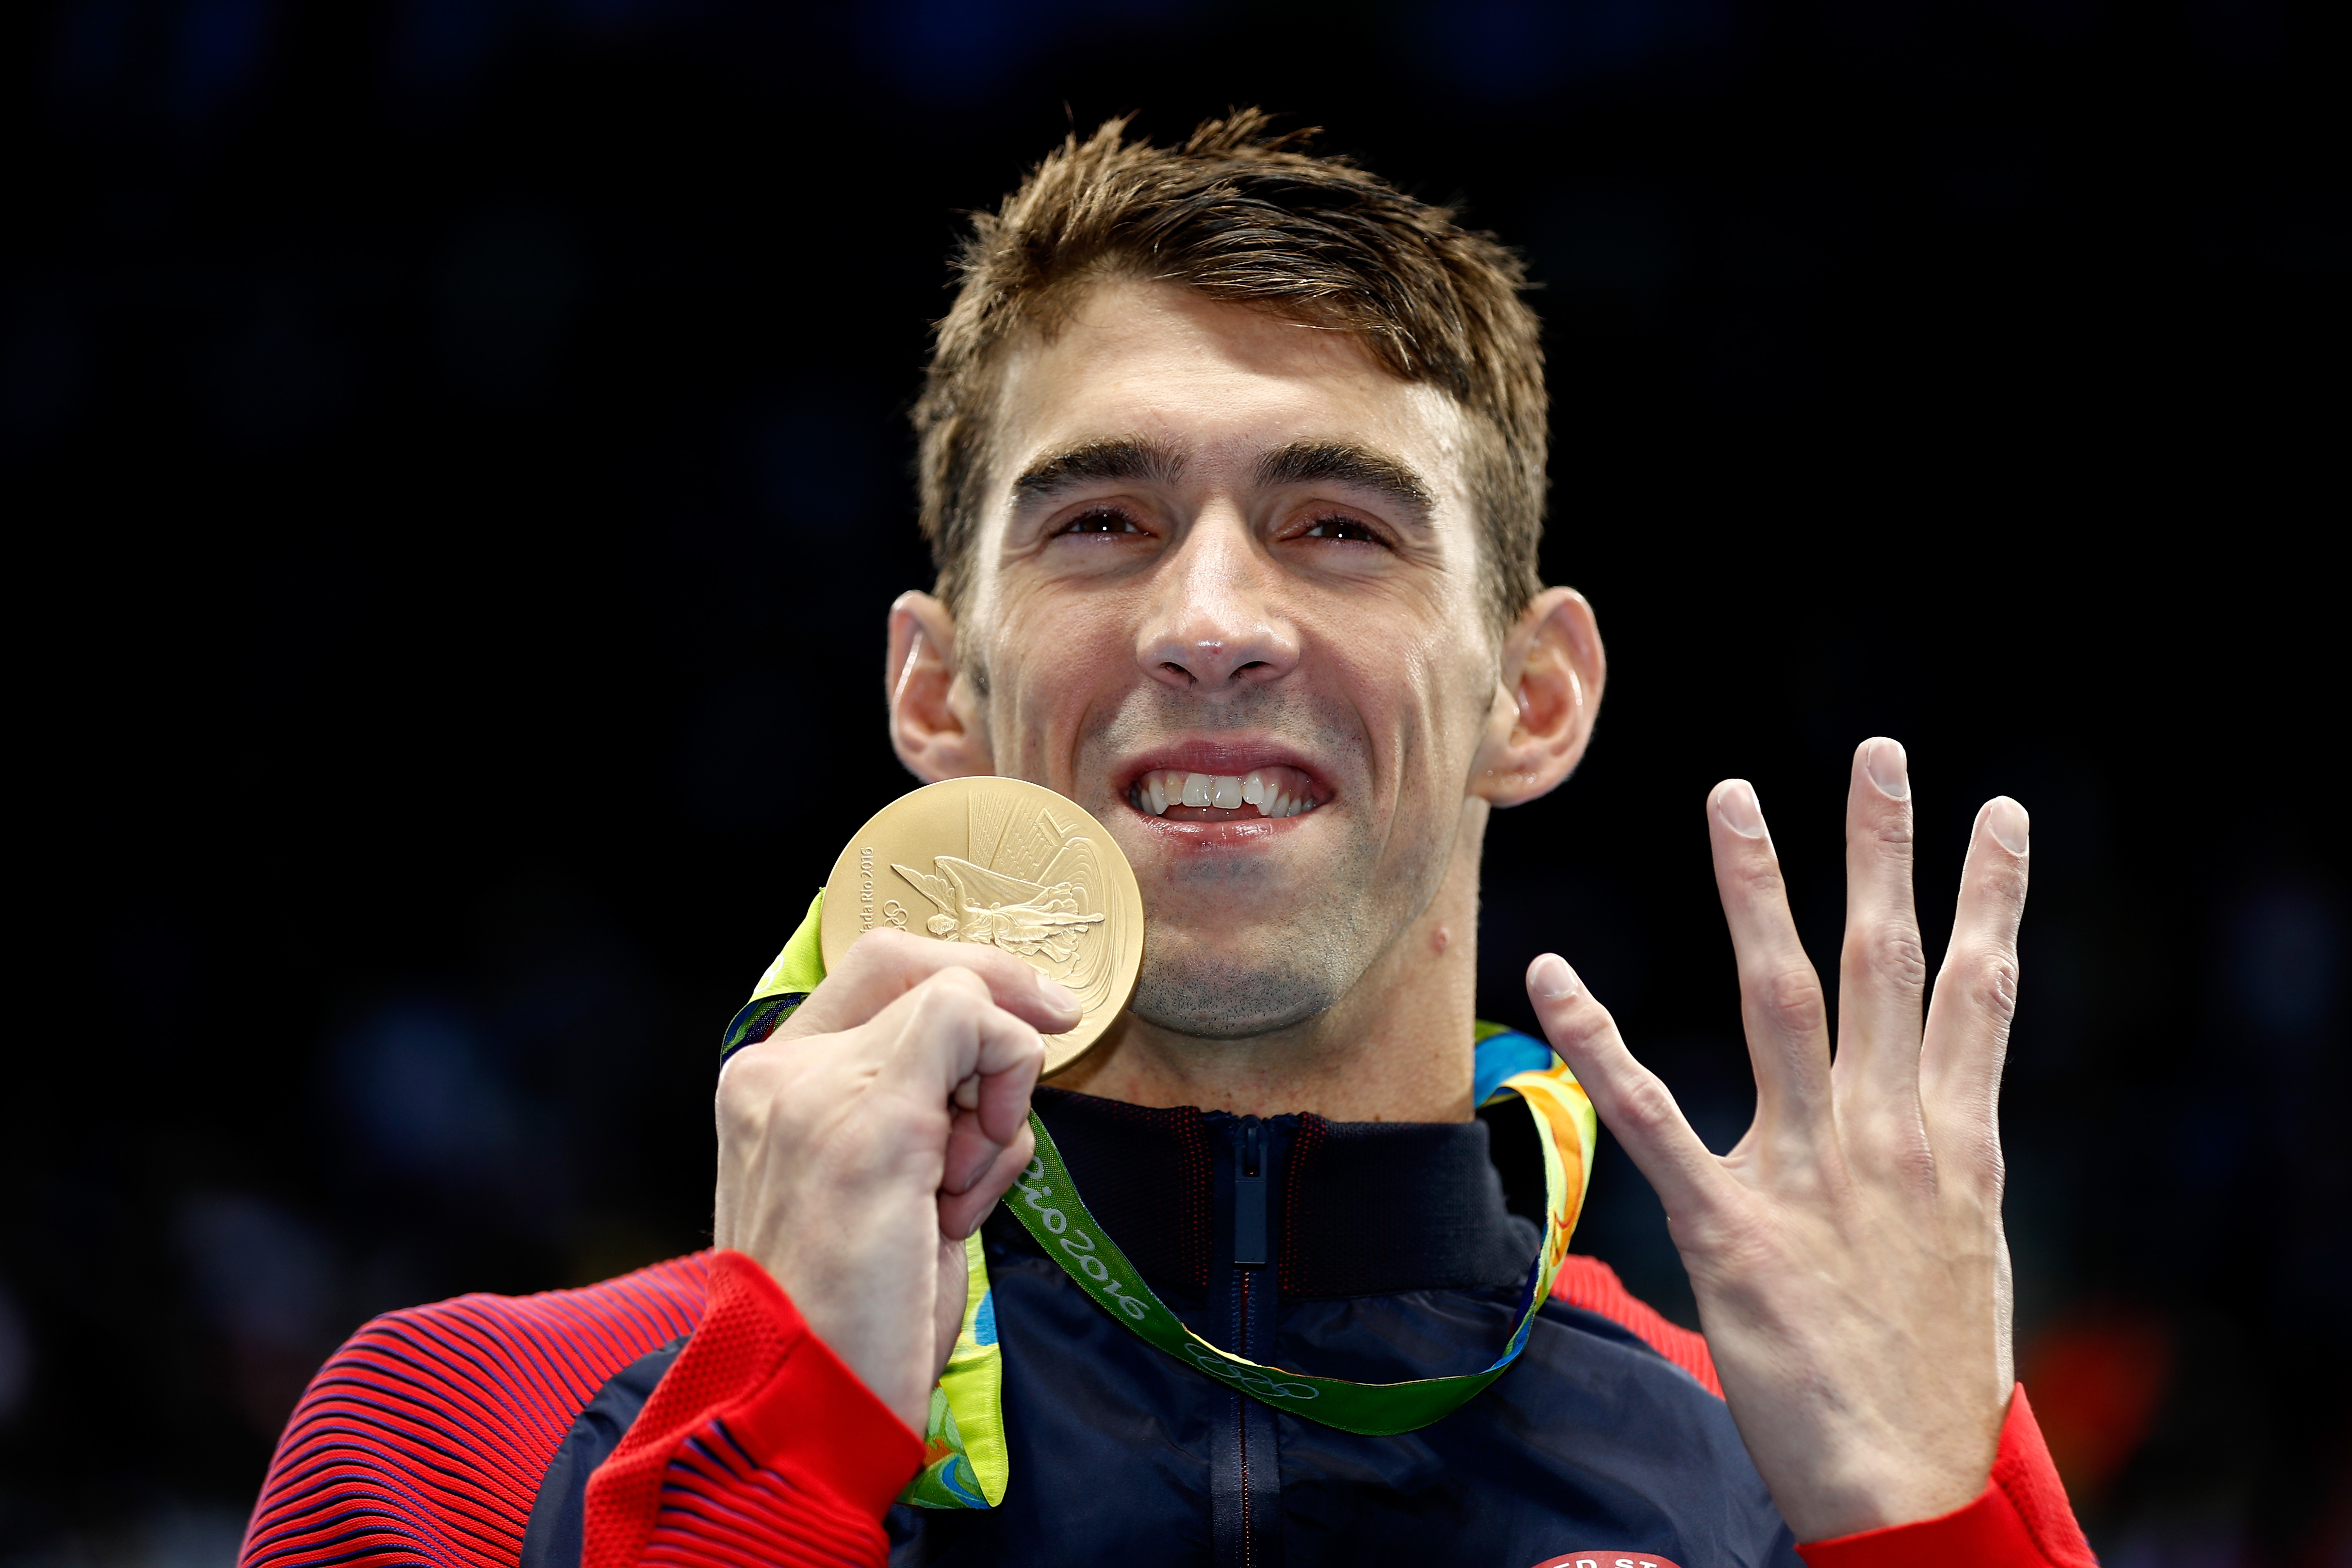
[[[1242,517],[1202,515],[1152,576],[1136,632],[1136,663],[1152,679],[1209,696],[1277,682],[1298,665],[1282,574]]]

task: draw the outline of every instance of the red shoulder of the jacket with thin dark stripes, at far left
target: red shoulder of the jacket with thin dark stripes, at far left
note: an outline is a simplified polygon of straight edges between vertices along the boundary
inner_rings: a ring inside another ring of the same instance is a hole
[[[240,1568],[513,1568],[572,1418],[694,1331],[708,1272],[694,1255],[586,1291],[379,1316],[294,1406]]]

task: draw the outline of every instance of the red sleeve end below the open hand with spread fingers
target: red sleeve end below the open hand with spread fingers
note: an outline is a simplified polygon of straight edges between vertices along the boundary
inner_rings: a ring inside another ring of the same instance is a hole
[[[1797,1547],[1811,1568],[2098,1568],[2074,1523],[2025,1385],[2009,1396],[1992,1479],[1976,1502],[1936,1519]]]

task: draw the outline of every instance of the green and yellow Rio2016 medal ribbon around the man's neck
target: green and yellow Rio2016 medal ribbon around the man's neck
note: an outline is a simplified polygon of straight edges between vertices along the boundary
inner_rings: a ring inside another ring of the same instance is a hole
[[[722,1053],[764,1039],[807,992],[826,978],[823,957],[816,947],[816,929],[823,910],[823,893],[809,905],[809,914],[793,940],[760,978],[753,999],[727,1025]],[[1543,1060],[1548,1051],[1524,1034],[1508,1034],[1482,1023],[1477,1030],[1484,1056],[1503,1056],[1489,1046],[1524,1051],[1526,1058]],[[1479,1072],[1484,1088],[1491,1077]],[[1534,1328],[1536,1312],[1552,1293],[1552,1276],[1569,1253],[1569,1234],[1585,1201],[1592,1180],[1595,1117],[1592,1100],[1583,1086],[1559,1063],[1531,1067],[1503,1077],[1482,1095],[1491,1105],[1501,1095],[1517,1095],[1526,1114],[1536,1119],[1543,1147],[1543,1239],[1526,1269],[1526,1286],[1519,1295],[1517,1326],[1510,1342],[1491,1366],[1456,1378],[1416,1378],[1406,1382],[1350,1382],[1345,1378],[1315,1378],[1291,1373],[1279,1366],[1261,1366],[1232,1352],[1209,1345],[1169,1312],[1167,1302],[1143,1284],[1143,1274],[1127,1260],[1117,1241],[1094,1220],[1077,1197],[1077,1182],[1054,1147],[1054,1135],[1037,1112],[1030,1112],[1030,1131],[1037,1135],[1037,1157],[1028,1171],[1004,1194],[1004,1206],[1035,1237],[1044,1255],[1061,1265],[1077,1288],[1094,1298],[1103,1312],[1124,1324],[1136,1338],[1164,1349],[1185,1366],[1228,1387],[1242,1389],[1261,1403],[1289,1410],[1303,1420],[1341,1432],[1367,1436],[1390,1436],[1428,1427],[1458,1410],[1472,1394],[1503,1375]],[[988,1262],[981,1253],[981,1237],[974,1232],[964,1244],[964,1260],[971,1269],[971,1288],[964,1305],[964,1326],[931,1392],[931,1420],[924,1432],[924,1467],[901,1493],[903,1502],[917,1507],[993,1507],[1004,1500],[1009,1465],[1004,1453],[1002,1413],[1002,1354],[997,1349],[995,1291],[988,1284]]]

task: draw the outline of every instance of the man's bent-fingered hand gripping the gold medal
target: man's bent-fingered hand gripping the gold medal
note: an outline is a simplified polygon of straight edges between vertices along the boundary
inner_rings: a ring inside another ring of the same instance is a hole
[[[1009,952],[873,931],[720,1074],[715,1241],[915,1432],[964,1319],[964,1237],[1035,1152],[1037,1032],[1075,1023]]]

